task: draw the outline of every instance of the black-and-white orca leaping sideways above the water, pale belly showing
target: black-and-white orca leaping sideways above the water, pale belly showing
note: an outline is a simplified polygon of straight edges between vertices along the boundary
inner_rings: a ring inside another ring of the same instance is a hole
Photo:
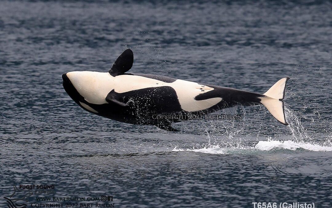
[[[178,131],[171,123],[187,120],[188,115],[206,115],[238,104],[263,104],[279,122],[288,125],[283,100],[289,77],[259,94],[159,75],[126,73],[133,60],[133,52],[127,49],[109,72],[67,72],[62,75],[63,88],[91,113],[168,131]],[[177,117],[170,119],[171,115]]]

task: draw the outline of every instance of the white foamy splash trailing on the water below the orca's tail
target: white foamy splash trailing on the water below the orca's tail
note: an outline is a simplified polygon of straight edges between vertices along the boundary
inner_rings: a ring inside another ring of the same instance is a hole
[[[243,110],[245,113],[246,111]],[[305,130],[304,126],[301,124],[300,116],[294,110],[292,110],[289,105],[285,104],[285,115],[286,120],[289,123],[288,129],[290,130],[291,140],[287,137],[287,140],[283,140],[276,138],[276,140],[272,139],[271,137],[267,138],[264,141],[258,141],[256,145],[249,146],[243,145],[241,141],[235,141],[234,138],[237,137],[236,132],[234,129],[236,127],[232,126],[231,130],[228,131],[227,126],[223,126],[226,129],[226,134],[229,136],[229,140],[233,142],[227,142],[225,147],[225,143],[223,147],[219,146],[218,144],[212,145],[211,144],[211,132],[207,131],[207,138],[208,144],[203,148],[179,148],[174,147],[172,151],[192,151],[192,152],[202,152],[208,154],[232,154],[232,153],[252,153],[257,151],[264,151],[268,152],[271,150],[304,150],[304,151],[319,151],[319,152],[330,152],[332,151],[332,134],[329,135],[324,141],[316,143],[314,138],[311,138],[307,131]],[[217,129],[217,126],[214,126]],[[208,129],[208,128],[207,128]],[[235,133],[235,134],[234,134]],[[234,135],[234,136],[233,136]],[[225,142],[225,141],[223,141]],[[235,145],[234,145],[235,142]]]

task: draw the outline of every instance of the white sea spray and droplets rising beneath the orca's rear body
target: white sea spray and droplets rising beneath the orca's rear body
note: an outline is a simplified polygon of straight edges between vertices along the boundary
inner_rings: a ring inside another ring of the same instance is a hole
[[[240,108],[245,112],[244,108]],[[288,149],[292,151],[304,150],[304,151],[332,151],[332,135],[328,135],[324,142],[319,144],[311,141],[306,129],[301,124],[300,116],[289,105],[285,104],[285,115],[289,123],[288,129],[290,131],[290,137],[276,137],[269,136],[265,141],[258,141],[253,144],[252,140],[246,142],[245,138],[240,138],[240,132],[244,132],[245,126],[235,125],[233,121],[228,122],[215,122],[205,123],[205,136],[207,137],[207,143],[201,147],[192,148],[179,148],[175,147],[172,151],[192,151],[202,152],[209,154],[252,154],[257,151],[275,151],[278,149]],[[202,122],[203,124],[203,122]],[[215,136],[214,133],[220,132],[220,129],[224,129],[224,135]],[[257,138],[259,134],[257,134]],[[214,138],[214,142],[211,139]],[[220,139],[221,138],[221,139]]]

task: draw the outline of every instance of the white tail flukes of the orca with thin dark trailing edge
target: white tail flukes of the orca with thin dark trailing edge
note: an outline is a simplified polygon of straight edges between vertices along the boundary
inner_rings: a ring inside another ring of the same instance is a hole
[[[260,103],[269,110],[273,117],[284,125],[288,125],[285,117],[283,100],[285,98],[286,83],[289,79],[289,77],[285,77],[276,82],[276,84],[263,94],[265,96],[261,97],[260,101]]]

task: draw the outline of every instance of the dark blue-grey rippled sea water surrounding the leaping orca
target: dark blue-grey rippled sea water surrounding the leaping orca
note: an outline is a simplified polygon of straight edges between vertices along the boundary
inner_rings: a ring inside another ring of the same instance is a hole
[[[1,207],[13,185],[40,184],[56,197],[112,195],[114,207],[331,207],[331,7],[1,1]],[[165,132],[98,117],[66,95],[61,74],[106,72],[126,48],[131,73],[257,93],[290,76],[290,125],[262,106],[238,107],[230,111],[242,120]]]

